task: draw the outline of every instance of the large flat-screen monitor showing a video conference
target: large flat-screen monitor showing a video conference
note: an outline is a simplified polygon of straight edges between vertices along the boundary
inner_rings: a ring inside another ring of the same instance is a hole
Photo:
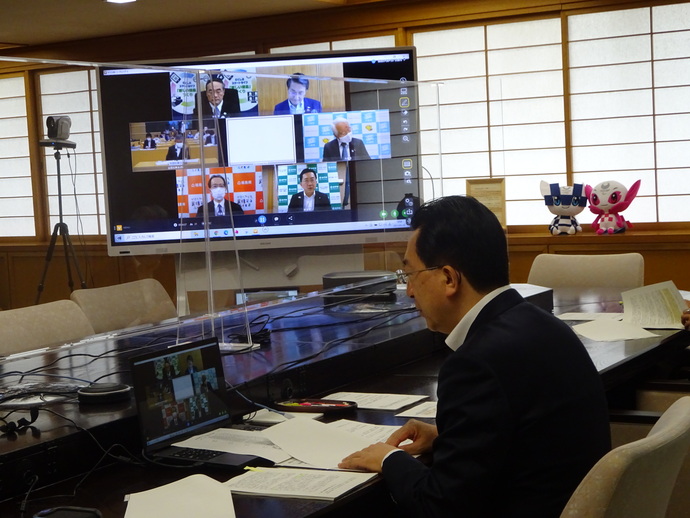
[[[100,68],[109,253],[405,240],[415,77],[411,47]]]

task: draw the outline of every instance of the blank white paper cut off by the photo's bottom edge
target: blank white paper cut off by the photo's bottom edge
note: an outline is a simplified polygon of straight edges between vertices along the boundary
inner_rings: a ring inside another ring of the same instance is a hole
[[[201,509],[204,518],[235,518],[232,492],[206,475],[191,475],[149,491],[132,493],[125,518],[190,518],[199,516]]]

